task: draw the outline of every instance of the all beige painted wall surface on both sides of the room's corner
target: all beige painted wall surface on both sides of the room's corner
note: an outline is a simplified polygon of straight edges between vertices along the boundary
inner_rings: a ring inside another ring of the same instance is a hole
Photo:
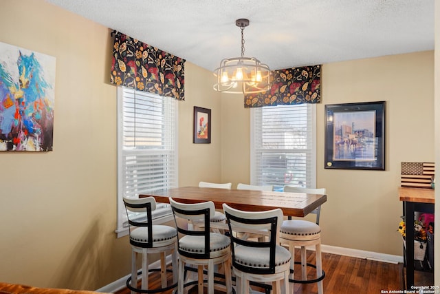
[[[0,0],[0,7],[1,42],[56,57],[54,151],[0,154],[0,280],[100,288],[128,274],[131,262],[128,240],[114,233],[110,31],[43,0]],[[323,65],[317,184],[329,194],[322,213],[325,244],[401,254],[399,162],[434,158],[432,72],[432,52]],[[212,83],[211,72],[186,63],[181,186],[250,179],[249,109],[240,96],[214,92]],[[324,105],[380,100],[388,103],[386,171],[323,169]],[[192,144],[194,106],[212,109],[210,145]]]

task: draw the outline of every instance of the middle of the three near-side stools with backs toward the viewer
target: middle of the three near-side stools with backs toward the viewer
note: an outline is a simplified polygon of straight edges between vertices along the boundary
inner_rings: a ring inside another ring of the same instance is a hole
[[[178,231],[179,282],[178,293],[183,293],[185,286],[185,265],[197,266],[198,293],[203,293],[204,271],[207,267],[208,294],[214,293],[214,265],[223,265],[226,292],[232,293],[230,269],[230,239],[222,234],[210,231],[210,218],[214,216],[212,201],[186,204],[169,198]],[[201,225],[193,226],[195,222]]]

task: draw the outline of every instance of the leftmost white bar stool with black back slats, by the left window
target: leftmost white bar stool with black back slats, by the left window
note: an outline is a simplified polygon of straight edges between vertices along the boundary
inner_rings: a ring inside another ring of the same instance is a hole
[[[126,286],[134,293],[157,293],[177,286],[177,230],[170,226],[153,225],[151,211],[156,209],[153,197],[123,198],[131,244],[131,277]],[[171,252],[173,266],[173,284],[168,286],[166,277],[166,253]],[[158,289],[148,288],[148,273],[157,269],[148,269],[148,254],[160,254],[161,286]],[[142,254],[141,288],[137,288],[137,254]]]

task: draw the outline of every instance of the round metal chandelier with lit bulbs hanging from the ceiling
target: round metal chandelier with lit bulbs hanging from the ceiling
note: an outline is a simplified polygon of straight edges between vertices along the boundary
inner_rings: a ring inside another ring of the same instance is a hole
[[[254,57],[245,57],[243,31],[248,19],[237,19],[235,25],[241,29],[241,57],[223,59],[214,70],[217,83],[214,90],[225,93],[251,94],[270,89],[270,68]]]

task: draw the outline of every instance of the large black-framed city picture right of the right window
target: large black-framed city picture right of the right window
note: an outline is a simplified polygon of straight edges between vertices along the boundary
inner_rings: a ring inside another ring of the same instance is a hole
[[[385,170],[385,101],[325,105],[325,168]]]

